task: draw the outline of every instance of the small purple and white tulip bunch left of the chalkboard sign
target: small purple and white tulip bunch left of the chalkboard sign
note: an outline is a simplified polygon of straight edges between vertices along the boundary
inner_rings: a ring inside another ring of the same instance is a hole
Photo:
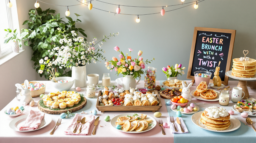
[[[167,79],[169,77],[176,77],[182,74],[185,74],[185,72],[183,71],[184,69],[186,69],[186,67],[181,68],[181,64],[176,64],[175,67],[173,66],[167,66],[162,68],[162,71],[166,74]]]

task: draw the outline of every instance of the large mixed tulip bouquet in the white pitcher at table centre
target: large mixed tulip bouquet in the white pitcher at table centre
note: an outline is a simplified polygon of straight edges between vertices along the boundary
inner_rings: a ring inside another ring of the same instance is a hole
[[[108,70],[112,71],[114,69],[117,72],[117,75],[120,73],[123,74],[123,77],[126,75],[133,75],[133,77],[136,79],[144,74],[143,69],[145,69],[145,65],[151,63],[151,61],[155,60],[155,58],[152,60],[147,59],[146,61],[143,61],[143,57],[140,57],[142,55],[142,51],[139,51],[137,59],[132,59],[131,52],[133,50],[131,48],[128,49],[130,56],[128,56],[128,53],[126,53],[125,56],[123,52],[120,51],[119,47],[114,47],[115,51],[120,52],[120,60],[118,61],[116,57],[113,57],[111,61],[105,62],[105,64]]]

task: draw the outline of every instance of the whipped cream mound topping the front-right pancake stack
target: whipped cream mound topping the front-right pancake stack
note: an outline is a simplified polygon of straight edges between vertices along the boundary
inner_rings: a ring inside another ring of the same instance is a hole
[[[207,111],[207,115],[212,118],[226,117],[229,115],[227,110],[223,107],[218,108],[217,106],[211,106],[206,108],[205,111]]]

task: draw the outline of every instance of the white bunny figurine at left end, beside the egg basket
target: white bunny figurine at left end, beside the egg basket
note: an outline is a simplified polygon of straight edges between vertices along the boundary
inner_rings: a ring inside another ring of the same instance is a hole
[[[31,101],[34,101],[34,99],[32,99],[31,95],[30,95],[30,90],[28,89],[28,80],[25,80],[24,81],[24,86],[25,88],[19,84],[19,83],[16,83],[15,86],[19,89],[21,89],[21,99],[20,99],[20,102],[22,105],[27,105],[29,104]]]

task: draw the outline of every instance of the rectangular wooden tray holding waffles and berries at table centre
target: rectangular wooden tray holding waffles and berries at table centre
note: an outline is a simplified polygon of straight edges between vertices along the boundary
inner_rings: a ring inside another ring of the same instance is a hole
[[[157,90],[149,90],[149,92],[158,93]],[[100,106],[99,97],[101,96],[101,91],[97,98],[96,108],[101,111],[152,111],[156,112],[162,107],[161,99],[159,94],[157,94],[157,101],[159,102],[156,106]]]

